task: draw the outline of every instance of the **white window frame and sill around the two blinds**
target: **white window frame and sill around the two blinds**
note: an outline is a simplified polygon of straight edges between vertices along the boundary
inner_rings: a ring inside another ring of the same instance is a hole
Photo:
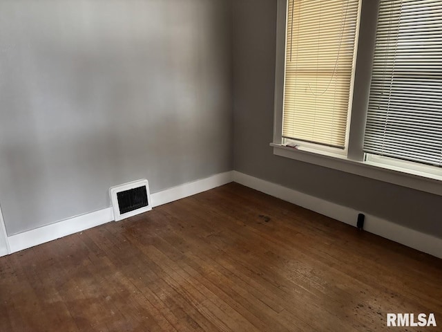
[[[363,152],[379,0],[362,0],[358,40],[364,42],[358,43],[357,46],[354,95],[351,111],[349,111],[351,118],[349,119],[346,153],[339,153],[334,148],[323,148],[320,145],[306,145],[305,142],[296,142],[298,144],[296,148],[286,146],[287,142],[282,138],[282,105],[287,0],[277,1],[273,142],[270,143],[273,147],[273,154],[442,196],[442,169],[431,166],[430,168],[411,166],[410,163],[401,162],[401,160],[392,161],[390,158],[378,158]],[[430,169],[431,172],[429,172]]]

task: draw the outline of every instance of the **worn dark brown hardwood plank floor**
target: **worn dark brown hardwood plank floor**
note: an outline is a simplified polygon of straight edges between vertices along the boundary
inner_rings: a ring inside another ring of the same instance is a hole
[[[0,331],[441,326],[441,259],[236,183],[0,258]]]

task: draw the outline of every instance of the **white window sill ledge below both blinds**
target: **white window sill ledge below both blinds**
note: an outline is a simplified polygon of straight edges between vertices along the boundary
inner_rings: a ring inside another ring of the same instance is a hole
[[[276,143],[270,143],[270,146],[273,147],[273,154],[276,156],[300,160],[305,163],[337,169],[342,172],[442,196],[442,176],[405,171],[399,167],[388,165],[374,165],[373,163],[351,160],[346,156],[323,151],[318,153],[309,149],[294,149]]]

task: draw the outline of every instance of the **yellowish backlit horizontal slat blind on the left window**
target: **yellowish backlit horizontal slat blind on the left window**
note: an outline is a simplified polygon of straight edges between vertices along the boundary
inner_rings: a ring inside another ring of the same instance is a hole
[[[282,136],[345,146],[358,0],[288,0]]]

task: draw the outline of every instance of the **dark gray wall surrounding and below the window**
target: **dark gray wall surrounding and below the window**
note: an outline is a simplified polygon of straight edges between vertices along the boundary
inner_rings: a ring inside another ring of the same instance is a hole
[[[441,196],[273,156],[276,2],[233,2],[234,169],[442,237]]]

